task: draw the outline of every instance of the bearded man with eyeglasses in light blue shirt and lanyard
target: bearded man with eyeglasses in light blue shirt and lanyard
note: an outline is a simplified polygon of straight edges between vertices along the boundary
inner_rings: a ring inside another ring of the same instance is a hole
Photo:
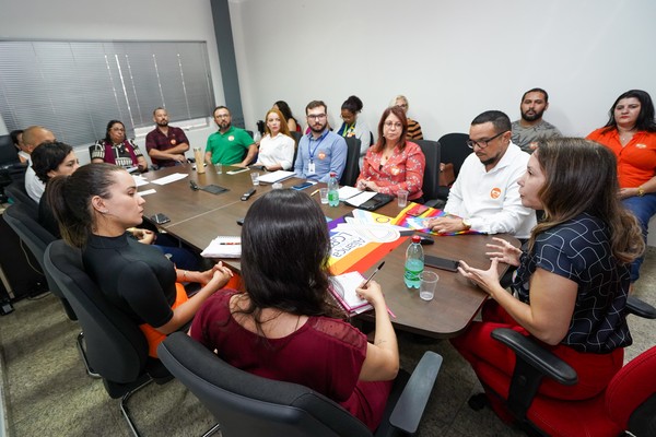
[[[313,101],[305,107],[309,133],[298,141],[294,163],[296,177],[327,182],[330,173],[341,178],[347,164],[347,142],[328,129],[328,108],[321,101]]]

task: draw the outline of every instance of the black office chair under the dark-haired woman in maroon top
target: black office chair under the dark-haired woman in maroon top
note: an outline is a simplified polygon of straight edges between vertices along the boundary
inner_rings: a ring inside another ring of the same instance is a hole
[[[185,333],[168,335],[157,354],[212,412],[223,437],[372,436],[362,422],[328,398],[296,383],[239,370]],[[411,377],[399,373],[376,436],[417,430],[441,365],[440,355],[426,352]]]

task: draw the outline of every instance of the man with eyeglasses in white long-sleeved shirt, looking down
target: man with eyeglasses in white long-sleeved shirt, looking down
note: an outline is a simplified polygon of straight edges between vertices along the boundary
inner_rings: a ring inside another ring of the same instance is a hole
[[[522,205],[517,179],[526,172],[529,154],[511,142],[511,120],[488,110],[471,121],[467,145],[473,150],[450,188],[446,216],[429,226],[441,234],[477,231],[484,234],[530,236],[535,211]]]

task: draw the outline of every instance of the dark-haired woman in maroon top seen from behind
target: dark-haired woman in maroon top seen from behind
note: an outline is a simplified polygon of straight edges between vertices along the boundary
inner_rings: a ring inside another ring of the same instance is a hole
[[[376,311],[374,343],[343,321],[329,295],[329,251],[315,201],[294,190],[268,192],[242,229],[246,291],[209,298],[190,335],[237,368],[323,393],[374,430],[399,368],[396,334],[375,281],[358,290]]]

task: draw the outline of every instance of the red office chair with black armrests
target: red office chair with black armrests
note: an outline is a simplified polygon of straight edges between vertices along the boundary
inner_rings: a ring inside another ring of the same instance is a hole
[[[656,309],[635,297],[629,297],[626,308],[631,314],[656,318]],[[512,329],[495,329],[492,338],[516,355],[511,386],[504,392],[502,387],[507,382],[484,369],[479,379],[529,435],[616,437],[624,430],[635,436],[656,435],[656,346],[622,367],[604,392],[583,401],[565,401],[541,395],[537,390],[543,377],[575,385],[577,376],[572,367]],[[480,410],[484,397],[472,397],[469,405]]]

